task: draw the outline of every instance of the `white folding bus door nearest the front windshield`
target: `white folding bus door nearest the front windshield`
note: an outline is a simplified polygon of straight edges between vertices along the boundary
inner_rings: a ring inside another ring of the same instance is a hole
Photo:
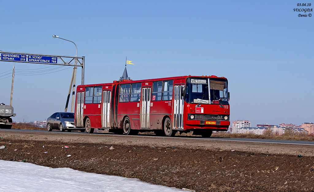
[[[173,99],[173,127],[174,129],[183,129],[183,105],[184,98],[181,95],[182,88],[185,85],[177,85],[174,90],[174,99]]]

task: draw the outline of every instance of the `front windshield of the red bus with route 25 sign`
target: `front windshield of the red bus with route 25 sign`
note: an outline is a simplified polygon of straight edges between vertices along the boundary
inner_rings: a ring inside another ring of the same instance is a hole
[[[208,91],[208,86],[210,87]],[[188,78],[186,102],[196,104],[229,104],[226,79]]]

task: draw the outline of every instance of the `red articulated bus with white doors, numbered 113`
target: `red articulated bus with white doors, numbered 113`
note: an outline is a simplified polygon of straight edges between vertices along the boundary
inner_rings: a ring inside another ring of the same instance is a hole
[[[75,126],[88,133],[98,128],[171,137],[193,131],[210,137],[228,130],[229,115],[228,80],[214,75],[113,81],[76,91]]]

